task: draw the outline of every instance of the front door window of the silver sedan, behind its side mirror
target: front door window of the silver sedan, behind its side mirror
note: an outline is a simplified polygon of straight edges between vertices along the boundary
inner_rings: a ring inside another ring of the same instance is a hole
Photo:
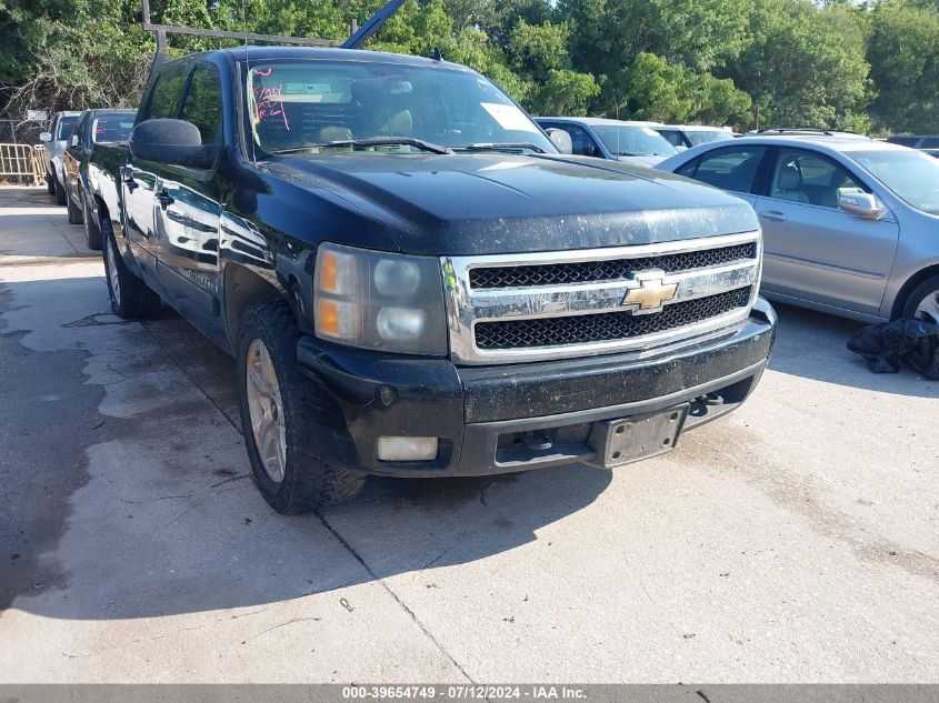
[[[770,183],[770,198],[820,208],[838,208],[839,192],[866,192],[848,171],[820,154],[783,149]]]

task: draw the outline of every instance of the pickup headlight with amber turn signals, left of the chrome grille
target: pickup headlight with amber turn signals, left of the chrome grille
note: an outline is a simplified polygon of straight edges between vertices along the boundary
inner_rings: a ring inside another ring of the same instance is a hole
[[[350,347],[446,354],[439,261],[320,244],[313,327],[320,339]]]

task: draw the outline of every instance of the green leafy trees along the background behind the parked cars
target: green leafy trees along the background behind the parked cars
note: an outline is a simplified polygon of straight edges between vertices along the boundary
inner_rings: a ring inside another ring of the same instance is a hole
[[[163,23],[341,39],[382,0],[151,4]],[[936,0],[408,0],[369,48],[440,49],[539,114],[939,132]],[[0,111],[133,106],[152,51],[140,0],[0,0]]]

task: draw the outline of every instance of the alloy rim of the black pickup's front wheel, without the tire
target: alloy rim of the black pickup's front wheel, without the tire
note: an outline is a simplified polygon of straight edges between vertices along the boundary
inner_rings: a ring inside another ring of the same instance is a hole
[[[244,373],[254,446],[261,458],[264,472],[271,481],[280,483],[283,481],[287,463],[283,402],[270,352],[259,339],[251,340],[248,345],[248,363]]]

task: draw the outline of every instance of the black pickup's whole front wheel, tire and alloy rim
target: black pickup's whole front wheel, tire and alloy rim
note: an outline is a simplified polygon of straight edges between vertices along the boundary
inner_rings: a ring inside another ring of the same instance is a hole
[[[238,401],[254,482],[277,512],[302,513],[353,498],[364,474],[316,455],[316,392],[297,365],[299,331],[284,301],[254,305],[238,335]]]

